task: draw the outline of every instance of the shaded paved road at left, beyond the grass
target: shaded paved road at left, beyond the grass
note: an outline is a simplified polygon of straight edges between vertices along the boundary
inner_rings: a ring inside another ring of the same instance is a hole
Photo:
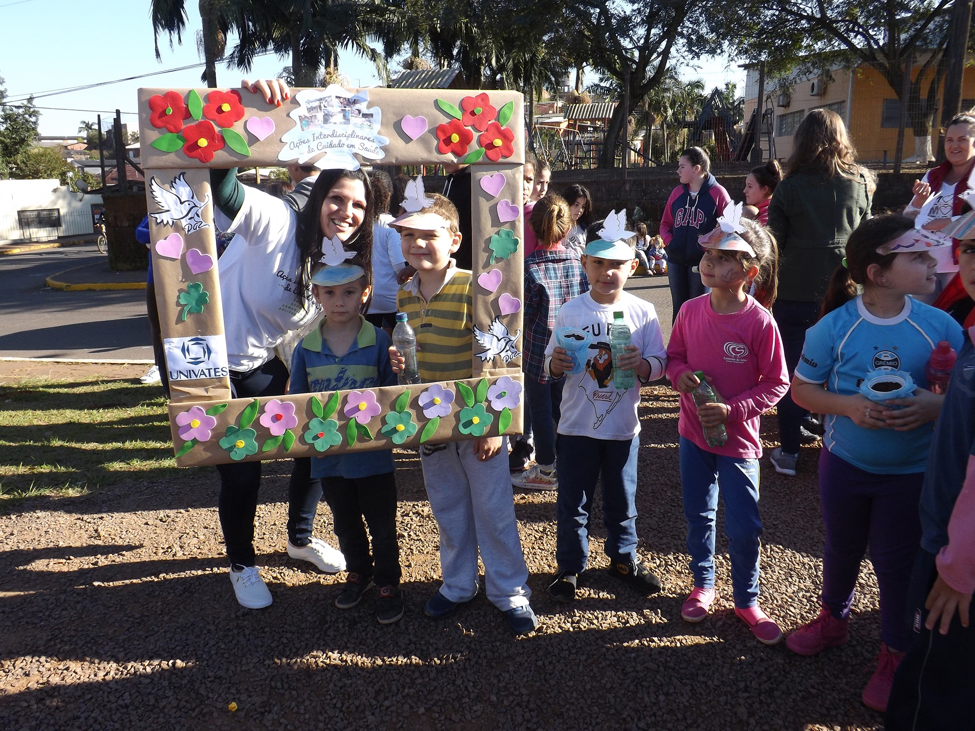
[[[44,284],[103,258],[94,244],[0,256],[0,357],[151,359],[144,289]]]

